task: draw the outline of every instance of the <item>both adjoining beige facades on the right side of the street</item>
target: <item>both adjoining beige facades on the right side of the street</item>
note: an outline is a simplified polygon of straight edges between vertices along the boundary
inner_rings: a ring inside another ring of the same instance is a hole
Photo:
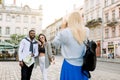
[[[120,0],[84,0],[85,24],[97,43],[97,56],[120,56]]]

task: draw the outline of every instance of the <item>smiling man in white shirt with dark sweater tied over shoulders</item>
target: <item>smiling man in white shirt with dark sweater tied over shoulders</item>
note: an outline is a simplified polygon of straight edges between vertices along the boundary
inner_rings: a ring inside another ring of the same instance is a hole
[[[35,40],[35,31],[30,30],[29,36],[22,39],[18,50],[21,80],[30,80],[34,57],[38,56],[38,43]]]

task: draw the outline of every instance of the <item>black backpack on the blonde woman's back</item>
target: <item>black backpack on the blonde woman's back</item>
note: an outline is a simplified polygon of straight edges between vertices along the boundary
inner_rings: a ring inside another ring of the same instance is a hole
[[[95,41],[90,41],[87,40],[87,42],[84,44],[86,45],[86,52],[85,55],[83,56],[83,65],[82,65],[82,70],[87,71],[88,74],[84,73],[88,78],[91,77],[89,71],[94,71],[96,68],[96,48],[97,45]]]

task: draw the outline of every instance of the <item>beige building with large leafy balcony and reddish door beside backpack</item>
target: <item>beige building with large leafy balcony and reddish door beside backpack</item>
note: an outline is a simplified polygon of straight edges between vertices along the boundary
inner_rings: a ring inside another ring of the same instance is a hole
[[[102,17],[104,0],[84,0],[84,23],[89,28],[89,39],[97,43],[97,56],[101,56]]]

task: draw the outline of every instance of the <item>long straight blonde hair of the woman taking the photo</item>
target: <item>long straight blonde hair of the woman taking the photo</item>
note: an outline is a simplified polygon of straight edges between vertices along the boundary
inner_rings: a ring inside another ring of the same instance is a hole
[[[83,25],[82,15],[79,12],[72,12],[68,16],[68,27],[71,29],[74,38],[79,44],[83,43],[86,38],[86,31]]]

